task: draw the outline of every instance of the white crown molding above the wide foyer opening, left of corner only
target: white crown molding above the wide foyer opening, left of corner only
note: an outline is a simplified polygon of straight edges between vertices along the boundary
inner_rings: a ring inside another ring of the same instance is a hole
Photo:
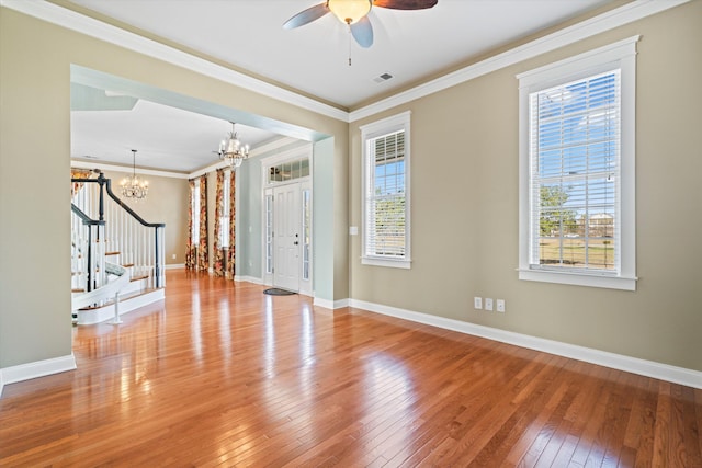
[[[110,44],[167,61],[191,71],[234,84],[239,88],[303,107],[338,121],[348,122],[349,113],[265,81],[249,77],[192,54],[178,50],[156,41],[103,23],[78,12],[44,0],[0,0],[5,7],[38,20],[76,31]]]

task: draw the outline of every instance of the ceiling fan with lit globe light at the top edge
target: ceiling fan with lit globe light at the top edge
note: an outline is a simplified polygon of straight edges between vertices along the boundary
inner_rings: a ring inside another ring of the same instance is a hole
[[[373,45],[373,26],[369,20],[372,7],[393,10],[424,10],[432,8],[439,0],[326,0],[303,10],[285,23],[283,27],[293,30],[304,26],[331,12],[351,30],[351,35],[361,47]]]

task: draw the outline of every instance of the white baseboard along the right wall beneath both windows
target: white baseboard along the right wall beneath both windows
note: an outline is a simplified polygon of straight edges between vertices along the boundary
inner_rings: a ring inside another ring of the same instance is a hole
[[[384,316],[396,317],[399,319],[424,323],[445,330],[453,330],[475,336],[487,338],[489,340],[500,341],[502,343],[513,344],[516,346],[528,347],[530,350],[542,351],[544,353],[555,354],[558,356],[584,361],[618,370],[624,370],[646,377],[667,380],[673,384],[680,384],[688,387],[702,389],[702,372],[699,370],[656,363],[654,361],[639,359],[637,357],[609,353],[605,351],[593,350],[590,347],[578,346],[559,341],[546,340],[528,334],[514,333],[511,331],[464,322],[461,320],[448,319],[429,313],[383,306],[381,304],[350,299],[349,305],[350,307],[382,313]]]

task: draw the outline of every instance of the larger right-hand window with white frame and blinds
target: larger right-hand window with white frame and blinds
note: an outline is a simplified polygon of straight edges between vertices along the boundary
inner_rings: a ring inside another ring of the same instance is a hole
[[[520,278],[635,289],[635,43],[519,76]]]

